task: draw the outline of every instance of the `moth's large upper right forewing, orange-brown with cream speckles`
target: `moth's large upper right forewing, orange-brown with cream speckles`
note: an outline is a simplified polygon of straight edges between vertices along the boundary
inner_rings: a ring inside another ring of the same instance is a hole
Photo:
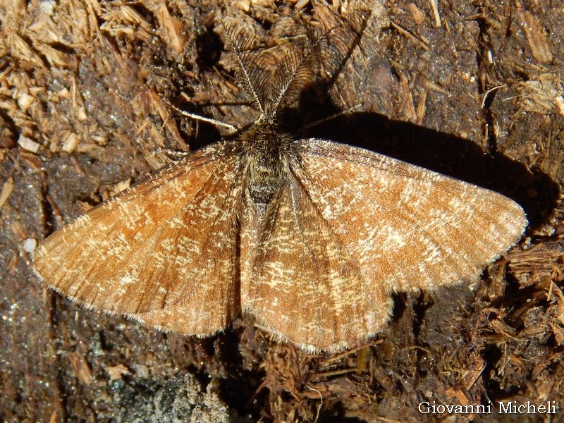
[[[295,147],[293,173],[372,289],[476,278],[527,226],[497,192],[336,142]]]

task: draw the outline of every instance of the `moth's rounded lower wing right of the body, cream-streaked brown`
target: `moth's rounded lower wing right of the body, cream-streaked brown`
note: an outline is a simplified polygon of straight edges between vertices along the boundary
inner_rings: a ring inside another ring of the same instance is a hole
[[[339,350],[381,329],[392,308],[384,286],[364,278],[291,173],[265,219],[250,278],[242,281],[243,309],[311,351]]]

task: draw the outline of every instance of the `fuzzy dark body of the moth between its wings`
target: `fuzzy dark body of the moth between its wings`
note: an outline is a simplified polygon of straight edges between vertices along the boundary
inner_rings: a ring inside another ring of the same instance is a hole
[[[260,122],[241,141],[247,151],[247,191],[260,215],[286,180],[292,137],[281,133],[274,123]]]

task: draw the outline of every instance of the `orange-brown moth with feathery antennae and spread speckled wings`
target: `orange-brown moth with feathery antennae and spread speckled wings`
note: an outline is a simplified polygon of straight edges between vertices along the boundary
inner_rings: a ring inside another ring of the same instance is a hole
[[[241,310],[282,340],[333,352],[388,321],[391,293],[477,278],[522,236],[496,192],[278,124],[316,46],[271,78],[228,28],[260,112],[234,140],[192,152],[49,236],[39,278],[162,331],[211,336]],[[269,85],[270,90],[264,90]]]

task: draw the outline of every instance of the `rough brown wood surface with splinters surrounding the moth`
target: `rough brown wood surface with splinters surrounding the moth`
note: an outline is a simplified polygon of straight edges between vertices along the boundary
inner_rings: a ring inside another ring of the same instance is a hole
[[[207,407],[210,421],[445,417],[420,414],[424,400],[564,407],[558,2],[373,4],[333,85],[305,98],[305,122],[358,105],[308,136],[496,190],[529,218],[520,245],[472,290],[397,295],[392,323],[369,345],[306,355],[250,317],[210,339],[164,335],[82,309],[32,275],[33,240],[145,178],[168,160],[166,149],[221,135],[171,104],[252,121],[251,109],[232,105],[244,99],[216,33],[222,20],[262,31],[297,11],[314,25],[351,6],[332,7],[0,0],[3,419],[163,421],[171,415],[162,412],[191,403]]]

